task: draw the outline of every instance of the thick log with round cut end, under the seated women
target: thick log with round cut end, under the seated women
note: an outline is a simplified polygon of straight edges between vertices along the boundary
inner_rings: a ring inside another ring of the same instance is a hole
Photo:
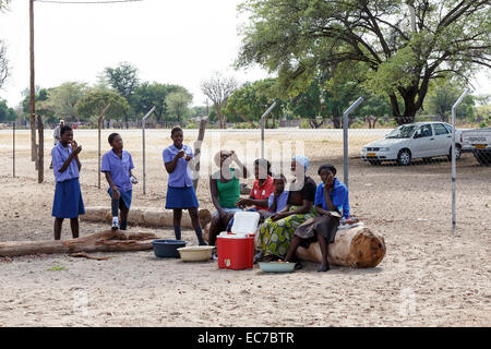
[[[327,258],[333,265],[374,267],[383,260],[385,252],[384,238],[373,234],[368,228],[356,227],[336,233],[334,242],[328,244]],[[311,243],[309,249],[298,248],[297,257],[322,263],[319,242]]]

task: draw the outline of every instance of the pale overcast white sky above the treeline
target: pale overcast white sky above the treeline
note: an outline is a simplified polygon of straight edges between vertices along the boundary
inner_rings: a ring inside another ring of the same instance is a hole
[[[83,1],[83,0],[67,0]],[[92,0],[101,1],[101,0]],[[127,61],[141,81],[179,84],[204,105],[200,83],[214,71],[240,83],[267,77],[259,67],[232,68],[241,37],[240,0],[144,0],[115,4],[35,2],[36,85],[95,84],[106,67]],[[0,39],[7,44],[11,75],[0,98],[15,107],[29,86],[28,1],[12,0],[0,13]],[[491,93],[491,74],[478,73],[475,94]]]

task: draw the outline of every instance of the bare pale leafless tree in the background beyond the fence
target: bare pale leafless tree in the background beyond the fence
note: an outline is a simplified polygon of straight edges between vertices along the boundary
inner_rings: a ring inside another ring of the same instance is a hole
[[[225,76],[219,72],[213,73],[208,80],[201,83],[201,91],[213,101],[220,129],[227,128],[227,117],[224,115],[224,109],[227,108],[228,97],[238,86],[239,83],[235,77]]]

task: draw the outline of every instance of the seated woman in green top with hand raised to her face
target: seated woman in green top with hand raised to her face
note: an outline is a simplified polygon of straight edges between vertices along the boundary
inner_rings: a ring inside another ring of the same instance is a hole
[[[229,167],[231,161],[238,165],[238,169]],[[208,231],[208,244],[215,245],[216,236],[227,229],[227,225],[236,212],[242,210],[236,206],[240,198],[238,177],[248,176],[247,168],[237,157],[233,151],[221,151],[215,155],[215,164],[220,167],[218,171],[209,176],[209,190],[216,210],[212,215]]]

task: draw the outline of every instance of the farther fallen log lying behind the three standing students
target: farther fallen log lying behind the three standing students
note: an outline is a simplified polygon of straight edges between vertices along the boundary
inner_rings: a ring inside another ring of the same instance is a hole
[[[204,228],[212,220],[212,214],[207,209],[199,212],[201,226]],[[112,215],[110,207],[85,207],[85,215],[80,216],[81,220],[111,222]],[[135,226],[145,227],[173,227],[173,213],[151,208],[131,208],[128,222]],[[182,215],[181,227],[193,229],[189,215]]]

